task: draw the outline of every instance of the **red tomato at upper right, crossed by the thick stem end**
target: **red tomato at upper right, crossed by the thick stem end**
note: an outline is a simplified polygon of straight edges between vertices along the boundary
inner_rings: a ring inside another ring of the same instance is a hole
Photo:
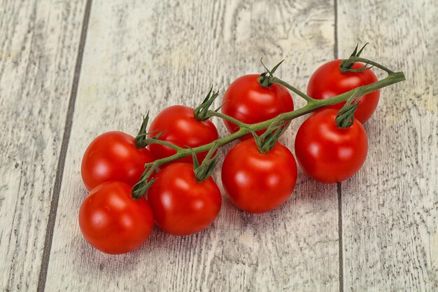
[[[353,90],[363,85],[368,85],[378,81],[376,75],[371,70],[362,72],[341,73],[339,63],[342,60],[333,60],[319,67],[310,78],[307,85],[307,95],[314,99],[327,99],[334,95]],[[362,63],[355,63],[352,69],[363,67]],[[371,92],[360,98],[360,104],[355,112],[355,118],[365,123],[372,116],[379,104],[380,90]],[[341,109],[345,102],[330,106],[331,109]]]

